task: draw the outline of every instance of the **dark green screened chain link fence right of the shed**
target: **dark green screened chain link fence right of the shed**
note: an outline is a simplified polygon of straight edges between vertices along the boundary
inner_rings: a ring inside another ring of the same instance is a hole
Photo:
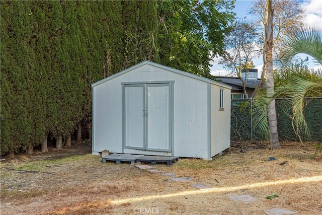
[[[278,135],[280,140],[322,141],[322,98],[306,98],[304,102],[304,117],[310,136],[305,136],[302,130],[296,132],[292,126],[292,107],[286,99],[275,99]],[[255,99],[231,100],[231,140],[265,140],[265,134],[260,133],[254,125],[256,113],[253,112]]]

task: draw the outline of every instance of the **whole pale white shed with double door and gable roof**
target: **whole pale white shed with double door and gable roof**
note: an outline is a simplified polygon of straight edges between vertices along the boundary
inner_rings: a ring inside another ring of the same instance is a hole
[[[230,90],[143,61],[92,85],[92,153],[210,159],[230,147]]]

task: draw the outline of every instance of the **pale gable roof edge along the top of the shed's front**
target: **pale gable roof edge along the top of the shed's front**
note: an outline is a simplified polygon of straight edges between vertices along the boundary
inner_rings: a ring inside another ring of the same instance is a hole
[[[168,70],[168,71],[171,71],[173,73],[177,73],[177,74],[180,74],[180,75],[183,75],[183,76],[187,76],[187,77],[190,77],[190,78],[193,78],[193,79],[197,79],[197,80],[200,80],[200,81],[203,81],[203,82],[207,82],[207,83],[211,83],[211,84],[214,84],[214,85],[218,85],[218,86],[222,86],[222,87],[225,87],[225,88],[228,88],[228,89],[231,89],[231,87],[229,85],[226,85],[226,84],[221,84],[219,82],[216,82],[216,81],[213,81],[213,80],[210,80],[210,79],[207,79],[207,78],[204,78],[204,77],[200,77],[200,76],[196,76],[194,74],[191,74],[191,73],[187,73],[186,71],[182,71],[182,70],[179,70],[179,69],[176,69],[176,68],[172,68],[172,67],[169,67],[169,66],[166,66],[166,65],[162,65],[162,64],[159,64],[159,63],[155,63],[155,62],[152,62],[152,61],[149,61],[149,60],[145,60],[145,61],[142,61],[138,64],[135,64],[131,67],[128,67],[126,69],[124,69],[123,71],[120,71],[119,73],[116,73],[112,76],[109,76],[105,79],[102,79],[96,83],[93,83],[92,84],[92,87],[95,87],[95,86],[98,86],[100,84],[103,84],[111,79],[114,79],[118,76],[121,76],[125,73],[128,73],[129,71],[131,70],[134,70],[140,66],[143,66],[143,65],[152,65],[152,66],[155,66],[155,67],[158,67],[158,68],[162,68],[162,69],[165,69],[165,70]]]

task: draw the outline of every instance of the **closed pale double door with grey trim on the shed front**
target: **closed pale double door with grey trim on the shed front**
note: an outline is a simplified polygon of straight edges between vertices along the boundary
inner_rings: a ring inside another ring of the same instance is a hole
[[[124,85],[124,148],[171,152],[171,91],[171,83]]]

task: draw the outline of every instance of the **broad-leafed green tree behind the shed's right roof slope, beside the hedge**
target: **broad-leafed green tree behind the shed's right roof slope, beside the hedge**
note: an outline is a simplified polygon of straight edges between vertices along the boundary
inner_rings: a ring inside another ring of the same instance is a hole
[[[211,78],[212,55],[224,53],[224,35],[233,23],[234,1],[159,1],[160,62]]]

